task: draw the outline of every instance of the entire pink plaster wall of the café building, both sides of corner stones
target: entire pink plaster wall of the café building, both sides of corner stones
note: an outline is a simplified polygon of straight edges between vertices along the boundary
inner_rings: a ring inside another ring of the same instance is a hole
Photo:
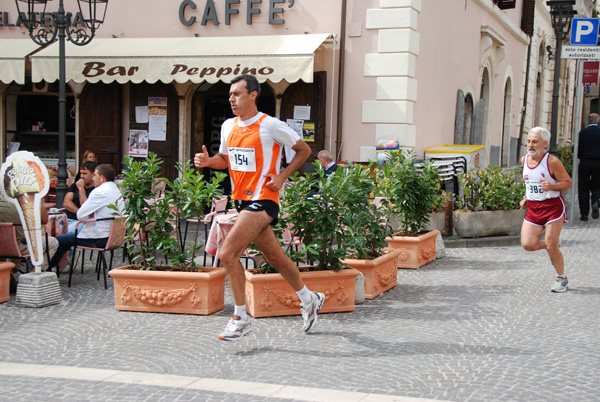
[[[342,0],[295,0],[292,8],[287,3],[278,3],[284,13],[277,15],[285,19],[283,25],[269,25],[269,2],[263,0],[254,8],[261,14],[254,16],[253,24],[246,24],[246,2],[235,7],[240,10],[232,16],[231,25],[225,25],[225,2],[214,0],[220,25],[212,22],[202,26],[200,20],[207,0],[194,0],[197,8],[188,8],[186,17],[195,16],[192,26],[179,21],[181,0],[127,0],[111,1],[106,22],[100,27],[98,37],[116,35],[135,37],[203,37],[245,35],[285,35],[308,33],[340,33]],[[417,32],[420,35],[420,50],[416,61],[418,99],[414,108],[414,125],[417,130],[417,155],[423,156],[426,148],[452,143],[454,138],[454,114],[458,89],[473,91],[474,100],[479,99],[480,89],[480,38],[482,25],[490,25],[506,40],[506,56],[499,63],[493,76],[492,113],[490,134],[485,145],[500,145],[503,121],[503,91],[505,77],[512,70],[512,118],[511,135],[517,135],[518,111],[522,87],[522,71],[526,57],[526,45],[518,41],[505,29],[498,19],[484,11],[479,0],[422,0],[418,16]],[[67,10],[76,9],[75,0],[65,0]],[[343,103],[343,145],[341,159],[358,160],[361,146],[375,145],[375,124],[362,123],[363,100],[376,99],[376,78],[364,76],[365,54],[378,52],[378,31],[366,30],[366,10],[380,7],[379,0],[347,0],[347,29],[360,27],[352,36],[346,37],[345,79]],[[491,3],[491,0],[490,0]],[[517,1],[514,10],[501,12],[512,24],[520,26],[522,1]],[[48,3],[48,11],[55,11],[57,2]],[[497,10],[497,8],[495,8]],[[16,19],[13,2],[0,6]],[[0,28],[1,38],[23,38],[24,29]],[[334,144],[337,132],[337,97],[339,42],[334,55],[333,45],[325,44],[317,52],[315,69],[327,71],[327,122],[325,143]],[[333,139],[333,141],[331,140]]]

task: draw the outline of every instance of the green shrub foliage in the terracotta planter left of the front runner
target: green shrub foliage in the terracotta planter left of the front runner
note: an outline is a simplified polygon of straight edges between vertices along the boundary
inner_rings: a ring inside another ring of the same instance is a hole
[[[153,152],[144,159],[125,156],[126,169],[119,184],[124,207],[125,239],[133,262],[140,269],[157,269],[158,259],[167,257],[172,265],[194,271],[194,258],[201,244],[198,230],[190,244],[182,245],[179,238],[181,215],[203,216],[214,199],[221,195],[219,182],[225,177],[217,173],[208,182],[189,161],[177,163],[180,176],[173,182],[160,178],[162,160]],[[166,182],[164,197],[156,198],[154,185]],[[116,205],[111,206],[117,210]],[[189,246],[189,249],[186,249]]]

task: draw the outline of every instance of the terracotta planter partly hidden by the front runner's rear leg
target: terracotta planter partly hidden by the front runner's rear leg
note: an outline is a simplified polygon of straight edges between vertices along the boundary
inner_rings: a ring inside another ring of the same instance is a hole
[[[246,307],[253,317],[300,315],[300,299],[292,287],[278,273],[253,274],[246,270]],[[320,313],[354,311],[355,269],[341,271],[306,271],[300,275],[306,286],[325,294]]]

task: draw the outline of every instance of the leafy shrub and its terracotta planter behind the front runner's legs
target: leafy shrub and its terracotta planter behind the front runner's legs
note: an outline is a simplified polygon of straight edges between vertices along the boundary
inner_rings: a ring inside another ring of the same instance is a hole
[[[355,283],[359,272],[343,263],[347,254],[348,193],[352,186],[352,169],[338,168],[335,174],[324,176],[315,163],[315,176],[290,178],[289,187],[281,196],[280,223],[299,238],[303,247],[291,252],[301,267],[300,275],[308,288],[325,294],[321,313],[354,311]],[[314,263],[314,265],[313,265]],[[296,293],[279,273],[267,269],[246,270],[248,311],[254,317],[295,315],[300,313]]]

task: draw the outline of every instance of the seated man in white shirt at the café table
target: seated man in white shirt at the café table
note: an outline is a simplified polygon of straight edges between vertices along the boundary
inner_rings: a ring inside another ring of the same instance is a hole
[[[87,201],[77,211],[77,219],[102,219],[114,217],[114,210],[108,208],[115,202],[121,203],[121,192],[115,184],[115,168],[112,165],[101,164],[94,170],[95,189],[89,195]],[[77,233],[77,244],[89,247],[105,247],[110,234],[110,220],[99,220],[88,222],[83,229]],[[50,261],[50,267],[56,266],[58,258],[62,256],[75,244],[75,233],[67,233],[57,236],[58,250],[55,257]]]

